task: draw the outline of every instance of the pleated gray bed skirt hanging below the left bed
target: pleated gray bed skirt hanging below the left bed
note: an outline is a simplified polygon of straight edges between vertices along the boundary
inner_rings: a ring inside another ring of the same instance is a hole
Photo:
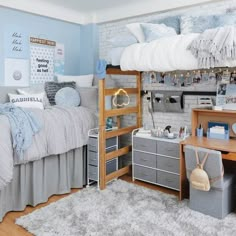
[[[86,184],[86,146],[14,167],[13,180],[0,191],[0,222],[9,211],[47,202]]]

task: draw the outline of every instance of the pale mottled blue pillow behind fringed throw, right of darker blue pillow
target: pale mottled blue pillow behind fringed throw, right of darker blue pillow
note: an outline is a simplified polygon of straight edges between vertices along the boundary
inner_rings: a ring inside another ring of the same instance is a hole
[[[202,33],[206,29],[218,27],[217,15],[209,16],[182,16],[181,34]]]

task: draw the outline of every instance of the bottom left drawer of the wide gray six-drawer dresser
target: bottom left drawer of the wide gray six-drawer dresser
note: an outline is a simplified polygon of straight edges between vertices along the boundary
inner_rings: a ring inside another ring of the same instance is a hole
[[[156,170],[134,165],[134,177],[144,181],[156,183]]]

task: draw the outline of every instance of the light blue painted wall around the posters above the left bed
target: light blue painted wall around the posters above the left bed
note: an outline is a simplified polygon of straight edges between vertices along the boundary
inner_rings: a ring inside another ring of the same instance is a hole
[[[0,7],[0,84],[4,81],[4,31],[11,25],[23,29],[29,36],[63,43],[65,74],[93,73],[94,58],[98,51],[93,38],[97,35],[96,25],[81,26]]]

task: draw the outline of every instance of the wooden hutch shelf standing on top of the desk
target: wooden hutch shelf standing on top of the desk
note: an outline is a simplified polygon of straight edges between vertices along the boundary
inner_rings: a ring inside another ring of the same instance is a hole
[[[236,137],[236,134],[232,130],[232,124],[236,123],[236,111],[215,111],[197,108],[192,110],[192,136],[196,136],[196,128],[199,127],[200,124],[206,133],[209,121],[228,123],[230,137]]]

